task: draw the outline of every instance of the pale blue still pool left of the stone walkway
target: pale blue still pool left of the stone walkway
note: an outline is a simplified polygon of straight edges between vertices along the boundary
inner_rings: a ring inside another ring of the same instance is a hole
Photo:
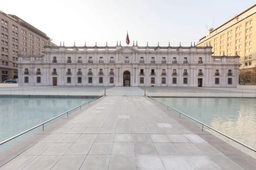
[[[0,97],[0,141],[89,100],[91,98]]]

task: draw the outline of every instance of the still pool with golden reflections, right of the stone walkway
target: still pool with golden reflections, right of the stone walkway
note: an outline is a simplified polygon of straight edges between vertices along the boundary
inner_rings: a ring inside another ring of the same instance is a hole
[[[256,148],[255,98],[157,98]]]

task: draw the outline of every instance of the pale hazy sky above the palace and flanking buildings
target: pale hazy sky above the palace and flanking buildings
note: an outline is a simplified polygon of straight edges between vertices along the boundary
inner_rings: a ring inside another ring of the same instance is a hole
[[[57,45],[182,46],[256,3],[256,0],[4,0],[0,10],[19,16]]]

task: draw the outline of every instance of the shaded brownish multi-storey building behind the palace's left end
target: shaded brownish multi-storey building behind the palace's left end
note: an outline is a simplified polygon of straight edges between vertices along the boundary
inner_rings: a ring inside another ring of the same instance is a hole
[[[50,37],[16,15],[0,10],[0,83],[18,77],[18,56],[22,54],[42,54],[44,45],[49,45]],[[50,45],[54,45],[50,42]]]

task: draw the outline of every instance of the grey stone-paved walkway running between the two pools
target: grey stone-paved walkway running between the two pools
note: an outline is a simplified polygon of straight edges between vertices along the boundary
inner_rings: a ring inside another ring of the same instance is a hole
[[[145,96],[105,96],[64,122],[0,169],[256,168]]]

